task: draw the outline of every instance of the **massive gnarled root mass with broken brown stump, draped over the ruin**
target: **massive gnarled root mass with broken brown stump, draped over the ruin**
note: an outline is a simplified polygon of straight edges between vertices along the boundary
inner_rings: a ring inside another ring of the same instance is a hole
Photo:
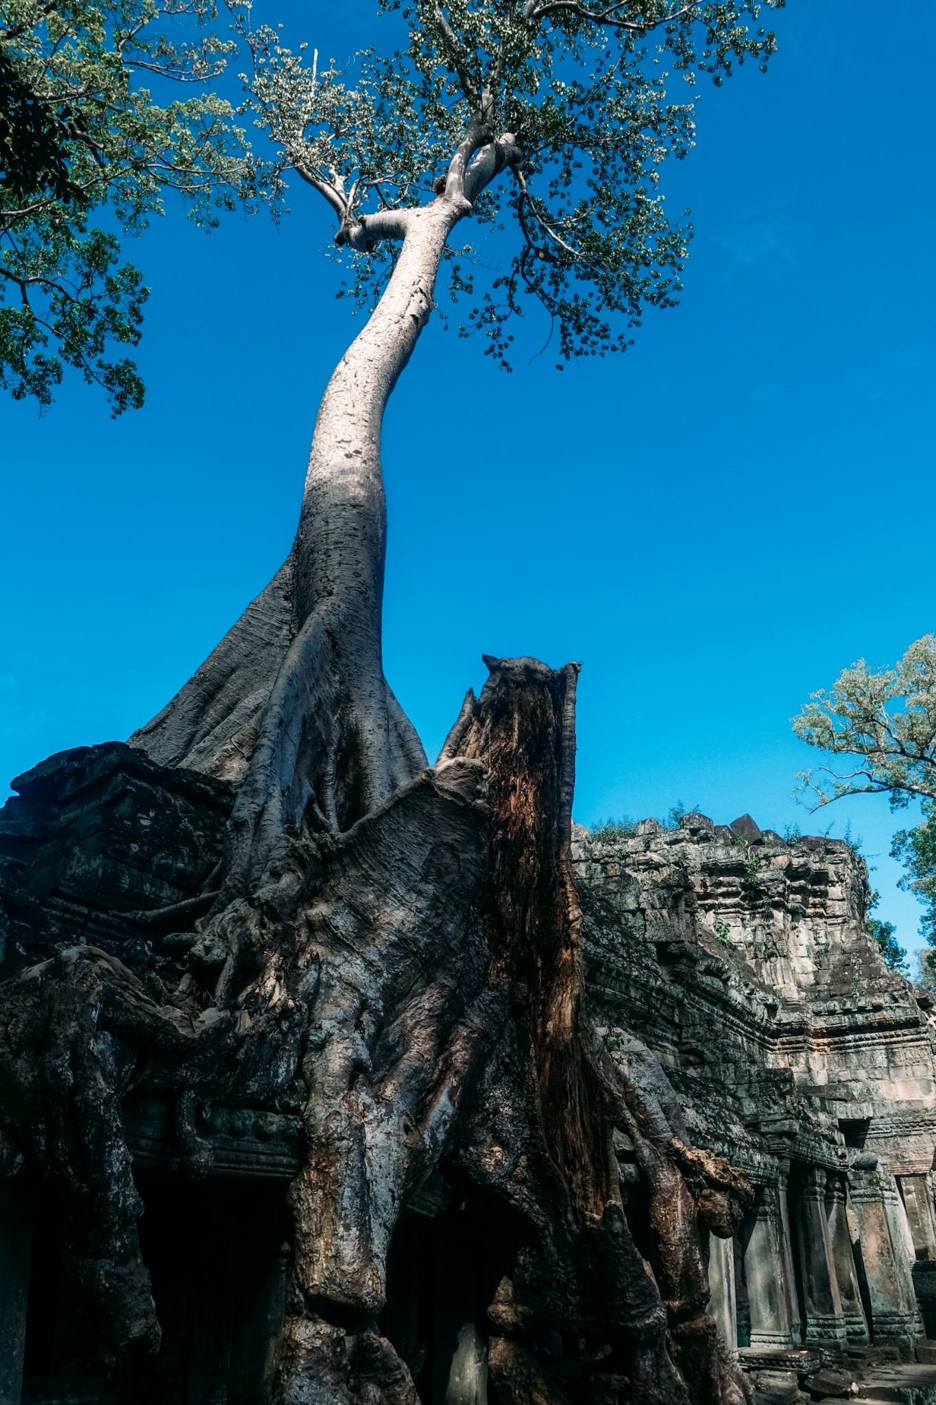
[[[484,1325],[505,1405],[745,1398],[706,1314],[699,1221],[730,1232],[749,1191],[689,1145],[651,1055],[612,1059],[585,1017],[577,669],[488,666],[436,766],[347,832],[282,839],[264,881],[192,933],[174,988],[87,946],[0,988],[3,1132],[63,1205],[111,1360],[159,1342],[123,1099],[168,1094],[203,1173],[195,1102],[297,1089],[272,1405],[414,1405],[376,1324],[403,1208],[439,1166],[500,1207],[491,1234],[514,1245]],[[616,1128],[650,1191],[657,1283],[622,1208]]]

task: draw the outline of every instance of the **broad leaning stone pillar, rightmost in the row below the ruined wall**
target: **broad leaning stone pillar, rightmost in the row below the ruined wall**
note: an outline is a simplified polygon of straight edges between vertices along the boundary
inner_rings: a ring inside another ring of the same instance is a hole
[[[862,1267],[871,1305],[869,1325],[876,1342],[897,1342],[912,1352],[923,1325],[902,1234],[897,1222],[891,1227],[891,1221],[897,1220],[897,1205],[890,1201],[897,1200],[897,1186],[892,1176],[877,1170],[877,1156],[862,1154],[855,1158],[849,1172]]]

